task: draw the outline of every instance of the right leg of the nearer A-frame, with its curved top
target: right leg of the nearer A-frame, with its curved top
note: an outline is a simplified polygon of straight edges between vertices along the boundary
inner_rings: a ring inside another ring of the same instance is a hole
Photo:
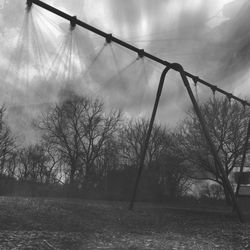
[[[206,140],[207,140],[207,143],[208,143],[208,146],[209,146],[209,148],[210,148],[210,151],[211,151],[211,153],[213,154],[213,157],[214,157],[214,159],[215,159],[215,164],[217,164],[217,166],[218,166],[218,168],[219,168],[219,171],[220,171],[220,173],[221,173],[221,175],[222,175],[222,180],[223,180],[224,184],[226,185],[227,190],[228,190],[229,193],[230,193],[230,196],[231,196],[231,199],[232,199],[232,202],[233,202],[233,206],[235,207],[235,210],[236,210],[236,212],[237,212],[237,215],[238,215],[238,217],[239,217],[239,220],[240,220],[240,222],[243,222],[242,214],[241,214],[240,208],[239,208],[239,206],[238,206],[238,204],[237,204],[237,200],[236,200],[236,198],[235,198],[233,188],[232,188],[232,186],[231,186],[231,184],[230,184],[230,182],[229,182],[229,180],[228,180],[228,177],[227,177],[227,175],[226,175],[226,173],[225,173],[225,170],[224,170],[224,168],[223,168],[223,165],[222,165],[222,163],[221,163],[221,161],[220,161],[220,158],[219,158],[219,156],[218,156],[218,154],[217,154],[216,148],[215,148],[214,143],[213,143],[213,141],[212,141],[212,138],[211,138],[211,136],[210,136],[210,134],[209,134],[209,131],[208,131],[208,129],[207,129],[207,126],[206,126],[206,124],[205,124],[205,121],[204,121],[204,119],[203,119],[203,116],[202,116],[202,114],[201,114],[201,111],[200,111],[200,109],[199,109],[199,106],[198,106],[198,104],[197,104],[197,102],[196,102],[196,100],[195,100],[195,97],[194,97],[194,95],[193,95],[192,89],[190,88],[188,78],[187,78],[187,76],[185,75],[184,70],[183,70],[183,68],[182,68],[182,66],[181,66],[180,64],[174,63],[174,64],[172,64],[172,67],[174,67],[177,71],[180,72],[181,78],[182,78],[183,83],[184,83],[184,85],[185,85],[185,87],[186,87],[186,89],[187,89],[187,92],[188,92],[188,94],[189,94],[189,97],[190,97],[190,99],[191,99],[191,101],[192,101],[192,104],[193,104],[195,113],[196,113],[196,115],[197,115],[197,117],[198,117],[198,119],[199,119],[199,122],[200,122],[200,124],[201,124],[202,131],[203,131],[204,136],[205,136],[205,138],[206,138]]]

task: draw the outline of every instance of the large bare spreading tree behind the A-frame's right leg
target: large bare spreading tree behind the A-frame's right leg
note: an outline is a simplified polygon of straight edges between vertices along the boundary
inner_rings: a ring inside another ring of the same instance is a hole
[[[230,176],[241,161],[249,113],[238,102],[227,98],[210,99],[200,108],[225,172]],[[198,118],[193,110],[188,115],[175,135],[176,154],[193,169],[192,177],[213,180],[224,187]],[[225,187],[224,190],[229,199]]]

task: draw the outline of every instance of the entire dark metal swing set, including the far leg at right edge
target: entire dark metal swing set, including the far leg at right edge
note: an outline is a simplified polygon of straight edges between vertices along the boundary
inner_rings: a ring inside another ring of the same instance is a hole
[[[157,57],[157,56],[155,56],[153,54],[150,54],[150,53],[144,51],[143,49],[137,48],[137,47],[135,47],[135,46],[133,46],[133,45],[127,43],[127,42],[124,42],[123,40],[120,40],[120,39],[116,38],[112,34],[105,33],[102,30],[99,30],[99,29],[97,29],[97,28],[95,28],[95,27],[93,27],[93,26],[79,20],[76,16],[70,16],[69,14],[67,14],[65,12],[62,12],[62,11],[60,11],[60,10],[58,10],[58,9],[56,9],[56,8],[42,2],[42,1],[39,1],[39,0],[27,0],[26,3],[27,3],[27,12],[28,13],[31,12],[32,5],[35,4],[35,5],[43,8],[43,9],[45,9],[47,11],[59,16],[59,17],[62,17],[63,19],[68,20],[69,23],[70,23],[70,27],[71,27],[72,32],[74,31],[76,26],[80,26],[80,27],[82,27],[82,28],[84,28],[84,29],[86,29],[88,31],[91,31],[91,32],[97,34],[100,37],[103,37],[105,39],[106,44],[116,43],[119,46],[121,46],[121,47],[123,47],[123,48],[125,48],[127,50],[135,52],[137,54],[138,58],[144,58],[145,57],[145,58],[148,58],[149,60],[154,61],[156,63],[159,63],[159,64],[161,64],[161,65],[163,65],[165,67],[164,70],[161,73],[161,76],[160,76],[160,81],[159,81],[159,84],[158,84],[158,89],[157,89],[155,102],[154,102],[154,106],[153,106],[153,111],[152,111],[152,114],[151,114],[148,130],[147,130],[147,134],[146,134],[146,138],[145,138],[145,143],[144,143],[142,154],[141,154],[141,157],[140,157],[138,174],[137,174],[137,177],[136,177],[132,198],[131,198],[131,201],[130,201],[130,204],[129,204],[129,209],[132,210],[133,207],[134,207],[134,202],[135,202],[135,199],[136,199],[137,189],[138,189],[139,181],[140,181],[143,166],[144,166],[145,156],[146,156],[146,152],[147,152],[151,132],[152,132],[152,129],[153,129],[153,125],[154,125],[155,116],[156,116],[156,113],[157,113],[160,97],[161,97],[161,94],[162,94],[164,80],[165,80],[165,77],[168,74],[168,72],[170,70],[174,70],[174,71],[179,73],[179,75],[180,75],[180,77],[182,79],[182,82],[183,82],[183,84],[184,84],[184,86],[186,88],[186,91],[187,91],[187,93],[188,93],[188,95],[190,97],[190,100],[191,100],[191,103],[193,105],[194,111],[195,111],[195,113],[196,113],[196,115],[198,117],[198,120],[199,120],[200,125],[201,125],[201,129],[203,131],[203,134],[204,134],[205,139],[207,141],[207,144],[209,146],[210,152],[214,157],[215,167],[218,170],[218,173],[220,173],[220,175],[222,176],[223,183],[224,183],[228,193],[230,194],[230,198],[231,198],[231,201],[232,201],[234,211],[236,211],[239,220],[241,222],[243,222],[242,212],[241,212],[241,209],[240,209],[240,207],[238,205],[238,202],[237,202],[237,198],[238,198],[239,190],[240,190],[240,179],[241,178],[238,178],[236,191],[234,192],[234,190],[232,188],[232,185],[231,185],[231,183],[230,183],[230,181],[228,179],[228,176],[227,176],[227,174],[226,174],[226,172],[224,170],[222,161],[219,158],[216,147],[215,147],[215,145],[214,145],[214,143],[212,141],[211,135],[209,134],[209,130],[208,130],[208,127],[207,127],[207,125],[205,123],[204,117],[203,117],[203,115],[201,113],[201,110],[199,108],[199,105],[197,103],[197,99],[198,99],[197,98],[197,84],[201,84],[201,85],[204,85],[204,86],[210,88],[212,90],[213,94],[215,94],[216,92],[219,92],[222,95],[226,96],[229,100],[233,99],[233,100],[235,100],[237,102],[240,102],[242,104],[242,106],[244,107],[244,109],[245,109],[245,107],[250,106],[250,103],[243,100],[243,99],[241,99],[241,98],[239,98],[239,97],[237,97],[237,96],[235,96],[235,95],[233,95],[233,94],[231,94],[231,93],[229,93],[229,92],[227,92],[227,91],[225,91],[225,90],[223,90],[223,89],[221,89],[221,88],[219,88],[219,87],[217,87],[216,85],[213,85],[211,83],[208,83],[208,82],[202,80],[198,76],[195,76],[195,75],[185,71],[183,69],[182,65],[180,65],[178,63],[170,63],[170,62],[168,62],[166,60],[162,60],[161,58],[159,58],[159,57]],[[102,53],[102,49],[98,52],[98,54],[99,53]],[[98,54],[96,55],[95,59],[97,58]],[[127,67],[130,67],[132,64],[133,64],[133,62],[128,64]],[[89,65],[89,67],[90,66],[91,65]],[[85,72],[89,69],[89,67],[85,70]],[[194,85],[195,85],[196,97],[195,97],[195,95],[193,93],[192,88],[190,87],[190,80],[192,80]],[[245,143],[243,145],[242,159],[241,159],[241,164],[240,164],[239,176],[241,176],[242,173],[243,173],[243,168],[244,168],[245,160],[246,160],[246,153],[247,153],[247,149],[248,149],[249,137],[250,137],[250,119],[248,121],[248,128],[247,128]]]

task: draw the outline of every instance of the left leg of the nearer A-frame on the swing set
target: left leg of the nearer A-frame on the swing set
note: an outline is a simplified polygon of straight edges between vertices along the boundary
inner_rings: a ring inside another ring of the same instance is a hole
[[[160,97],[161,97],[162,88],[163,88],[163,85],[164,85],[165,76],[166,76],[166,74],[168,73],[169,70],[170,70],[170,67],[166,67],[162,71],[162,74],[161,74],[160,82],[159,82],[157,93],[156,93],[156,97],[155,97],[154,108],[153,108],[153,111],[152,111],[152,115],[151,115],[151,119],[150,119],[148,131],[147,131],[147,135],[146,135],[146,139],[145,139],[144,146],[143,146],[143,149],[142,149],[142,154],[141,154],[141,157],[140,157],[139,169],[138,169],[138,173],[137,173],[137,177],[136,177],[136,181],[135,181],[133,195],[132,195],[132,198],[131,198],[131,201],[130,201],[130,205],[129,205],[129,209],[130,210],[132,210],[133,207],[134,207],[134,201],[135,201],[135,197],[136,197],[136,193],[137,193],[137,189],[138,189],[140,177],[141,177],[141,174],[142,174],[142,169],[143,169],[143,165],[144,165],[144,161],[145,161],[145,157],[146,157],[146,153],[147,153],[149,139],[150,139],[150,136],[151,136],[153,125],[154,125],[155,115],[156,115],[158,104],[159,104],[159,101],[160,101]]]

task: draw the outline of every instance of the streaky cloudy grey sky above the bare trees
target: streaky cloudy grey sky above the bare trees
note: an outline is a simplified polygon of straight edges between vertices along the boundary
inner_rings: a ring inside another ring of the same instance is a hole
[[[9,120],[27,128],[62,90],[103,98],[131,116],[149,116],[163,67],[25,0],[0,0],[0,95]],[[247,0],[45,0],[240,97],[249,97]],[[97,56],[98,55],[98,56]],[[211,91],[198,86],[200,101]],[[38,105],[39,104],[39,105]],[[20,105],[21,108],[20,108]],[[14,107],[13,107],[14,106]],[[157,119],[174,125],[190,106],[177,73],[166,77]]]

